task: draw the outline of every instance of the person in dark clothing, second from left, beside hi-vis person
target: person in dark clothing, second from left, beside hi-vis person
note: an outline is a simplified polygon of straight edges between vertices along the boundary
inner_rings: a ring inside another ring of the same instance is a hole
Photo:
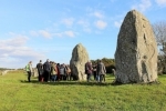
[[[42,74],[43,74],[43,64],[42,64],[42,60],[40,60],[40,62],[37,64],[37,69],[38,69],[38,81],[42,81]]]

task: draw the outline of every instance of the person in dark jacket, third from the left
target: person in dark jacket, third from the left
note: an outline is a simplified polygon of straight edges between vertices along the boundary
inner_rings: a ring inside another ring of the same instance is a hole
[[[43,64],[43,70],[44,70],[44,81],[48,82],[49,75],[50,75],[50,72],[51,72],[51,64],[49,62],[49,59]]]

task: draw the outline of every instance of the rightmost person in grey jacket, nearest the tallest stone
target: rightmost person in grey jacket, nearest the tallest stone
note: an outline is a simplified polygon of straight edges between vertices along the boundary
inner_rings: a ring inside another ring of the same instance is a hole
[[[104,63],[101,60],[98,60],[98,63],[97,63],[97,73],[100,75],[100,82],[102,82],[103,80],[105,82],[106,69],[105,69]]]

